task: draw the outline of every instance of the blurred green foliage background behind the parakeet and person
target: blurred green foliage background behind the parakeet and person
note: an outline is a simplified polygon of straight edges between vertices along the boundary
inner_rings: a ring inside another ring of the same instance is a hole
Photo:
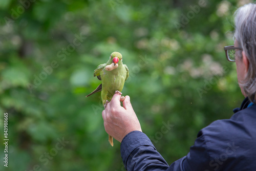
[[[233,12],[249,2],[1,0],[0,138],[8,112],[9,163],[1,143],[0,170],[124,170],[100,93],[85,97],[113,51],[130,69],[122,93],[143,132],[168,164],[185,156],[200,129],[243,100],[223,47],[233,45]]]

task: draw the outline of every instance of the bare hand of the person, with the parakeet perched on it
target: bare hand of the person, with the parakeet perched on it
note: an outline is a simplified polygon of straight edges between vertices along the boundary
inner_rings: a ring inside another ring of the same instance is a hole
[[[102,111],[106,133],[119,142],[128,133],[141,131],[140,122],[133,110],[130,97],[125,96],[123,106],[121,106],[120,99],[120,94],[114,94],[112,100],[106,105],[106,109]]]

